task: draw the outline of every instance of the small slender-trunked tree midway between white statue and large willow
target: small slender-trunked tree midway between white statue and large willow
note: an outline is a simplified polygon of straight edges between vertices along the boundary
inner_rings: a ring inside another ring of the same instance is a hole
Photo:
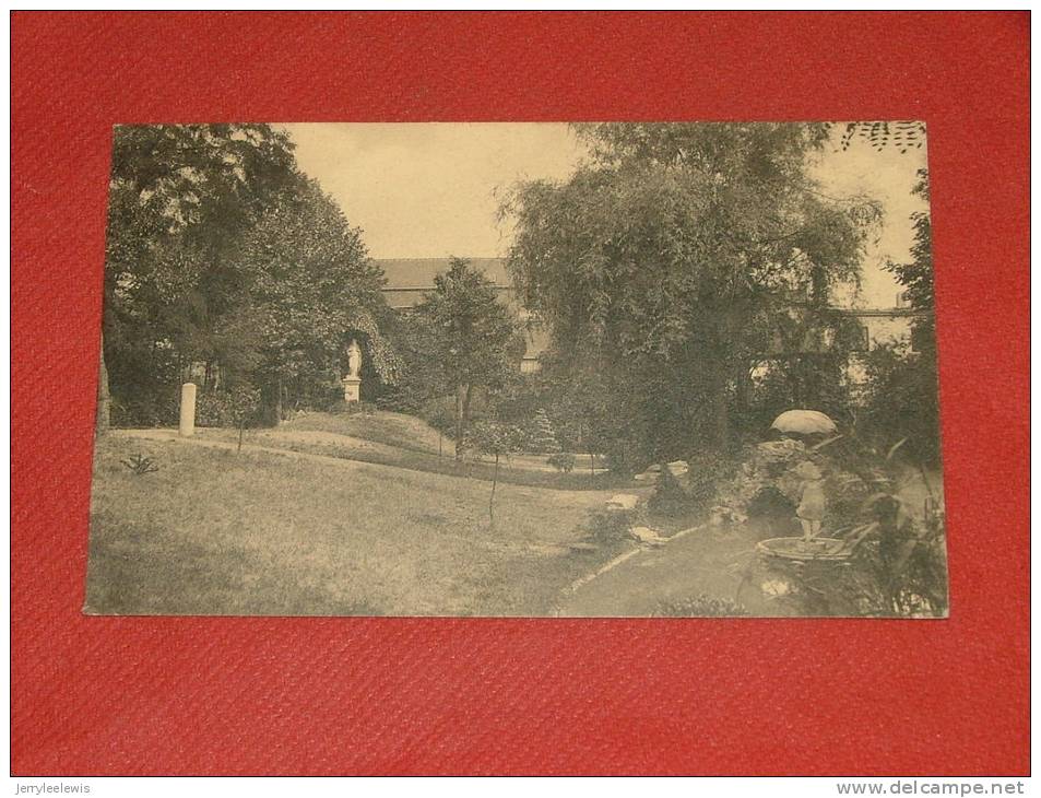
[[[501,384],[517,368],[519,336],[494,284],[469,260],[451,258],[434,285],[417,310],[433,330],[431,354],[453,384],[456,459],[461,460],[474,390]]]

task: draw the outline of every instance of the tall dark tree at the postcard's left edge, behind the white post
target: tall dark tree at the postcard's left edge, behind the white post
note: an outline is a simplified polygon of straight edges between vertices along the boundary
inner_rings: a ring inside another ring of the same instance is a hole
[[[240,295],[229,251],[294,168],[292,143],[267,125],[115,129],[102,379],[138,423],[173,411],[170,386]]]

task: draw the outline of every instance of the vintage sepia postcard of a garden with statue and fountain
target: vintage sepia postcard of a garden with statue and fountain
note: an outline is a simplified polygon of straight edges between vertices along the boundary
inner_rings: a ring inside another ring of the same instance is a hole
[[[925,137],[117,127],[84,611],[946,617]]]

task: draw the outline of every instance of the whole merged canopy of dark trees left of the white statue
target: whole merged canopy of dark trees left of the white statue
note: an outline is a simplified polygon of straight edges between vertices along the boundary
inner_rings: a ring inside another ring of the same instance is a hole
[[[192,366],[204,388],[246,383],[271,412],[287,386],[331,390],[345,339],[375,374],[380,274],[358,231],[267,125],[115,130],[104,348],[120,421],[168,420]]]

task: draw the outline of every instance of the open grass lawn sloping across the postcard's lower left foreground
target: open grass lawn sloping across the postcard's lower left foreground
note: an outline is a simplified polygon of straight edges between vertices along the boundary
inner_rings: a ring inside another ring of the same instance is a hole
[[[121,465],[135,454],[158,471]],[[539,615],[618,551],[568,548],[606,493],[502,484],[494,528],[488,493],[425,470],[114,433],[95,454],[85,610]]]

